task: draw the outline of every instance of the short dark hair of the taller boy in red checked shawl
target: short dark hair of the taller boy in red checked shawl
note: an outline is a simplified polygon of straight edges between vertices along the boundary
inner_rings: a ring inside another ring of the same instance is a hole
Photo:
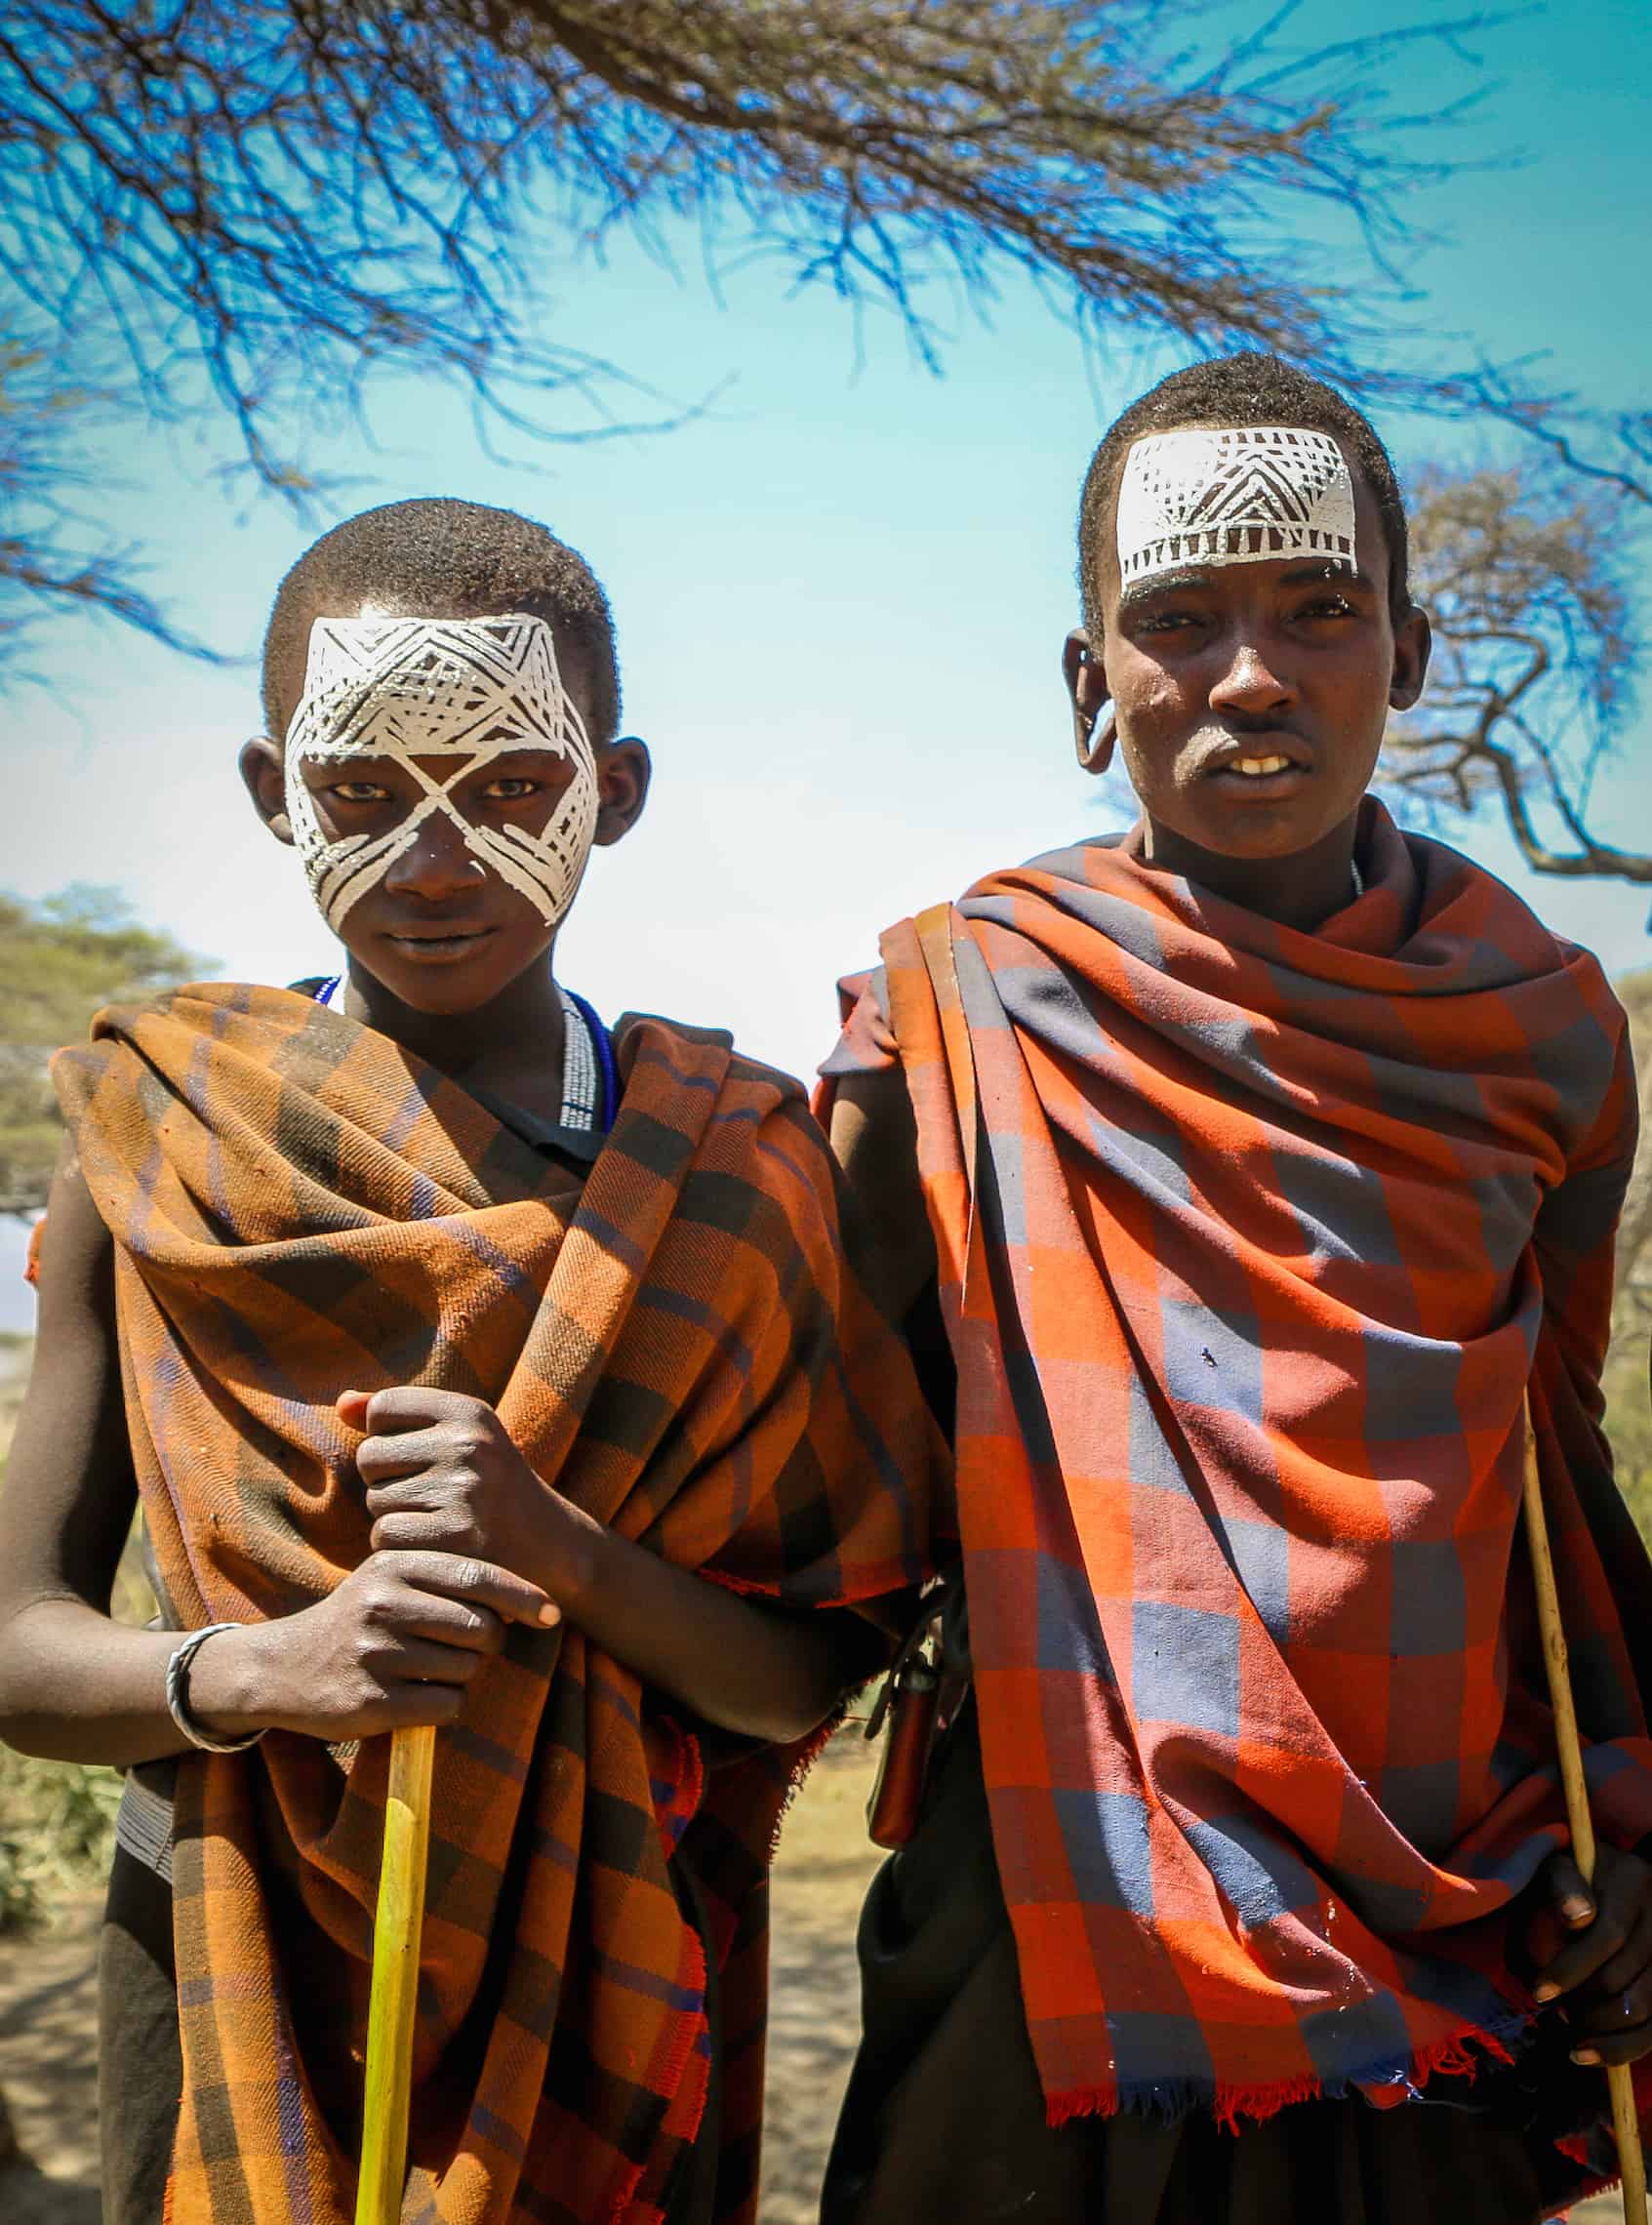
[[[1176,425],[1292,425],[1298,432],[1327,432],[1341,441],[1376,496],[1387,543],[1387,607],[1403,619],[1412,607],[1410,536],[1405,503],[1394,476],[1394,463],[1376,438],[1370,418],[1321,378],[1310,378],[1283,356],[1245,349],[1238,356],[1212,356],[1172,372],[1150,387],[1114,421],[1089,458],[1085,492],[1078,501],[1078,594],[1085,625],[1101,641],[1096,607],[1096,550],[1107,530],[1107,505],[1132,443]]]

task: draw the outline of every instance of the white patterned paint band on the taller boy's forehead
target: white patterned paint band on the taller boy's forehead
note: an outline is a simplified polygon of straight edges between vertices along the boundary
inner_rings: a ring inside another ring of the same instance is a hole
[[[1118,478],[1118,578],[1323,556],[1354,570],[1354,481],[1325,432],[1181,427],[1136,441]]]

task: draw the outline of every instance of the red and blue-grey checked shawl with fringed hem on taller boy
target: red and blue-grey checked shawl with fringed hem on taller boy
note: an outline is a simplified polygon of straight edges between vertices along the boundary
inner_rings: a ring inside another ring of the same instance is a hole
[[[1527,1375],[1596,1813],[1652,1829],[1652,1571],[1599,1433],[1623,1015],[1376,803],[1361,854],[1316,934],[1123,846],[992,874],[883,937],[825,1068],[898,1057],[916,1108],[1054,2123],[1401,2098],[1527,2023],[1499,1911],[1563,1840]]]

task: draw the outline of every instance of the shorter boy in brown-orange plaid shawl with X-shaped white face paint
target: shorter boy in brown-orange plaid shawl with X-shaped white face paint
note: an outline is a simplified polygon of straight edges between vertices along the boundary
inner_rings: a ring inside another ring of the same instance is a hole
[[[556,981],[649,779],[587,565],[369,512],[285,581],[265,694],[247,785],[349,966],[58,1061],[0,1542],[0,1727],[136,1764],[105,2216],[354,2214],[407,1724],[405,2216],[749,2216],[769,1840],[883,1651],[849,1609],[923,1573],[934,1435],[796,1084]],[[165,1629],[107,1620],[133,1495]]]

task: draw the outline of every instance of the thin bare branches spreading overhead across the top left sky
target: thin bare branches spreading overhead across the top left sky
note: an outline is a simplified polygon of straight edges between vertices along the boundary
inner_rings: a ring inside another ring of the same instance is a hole
[[[162,427],[209,394],[293,498],[380,367],[458,380],[494,425],[658,423],[545,314],[534,243],[665,254],[683,218],[714,274],[769,254],[889,305],[932,363],[1021,269],[1089,334],[1352,380],[1401,296],[1396,205],[1439,169],[1381,98],[1405,38],[1292,58],[1281,22],[1212,60],[1203,0],[0,0],[0,303],[44,349],[0,418],[49,496],[62,394]],[[49,498],[13,538],[13,610],[165,623],[136,552]]]

